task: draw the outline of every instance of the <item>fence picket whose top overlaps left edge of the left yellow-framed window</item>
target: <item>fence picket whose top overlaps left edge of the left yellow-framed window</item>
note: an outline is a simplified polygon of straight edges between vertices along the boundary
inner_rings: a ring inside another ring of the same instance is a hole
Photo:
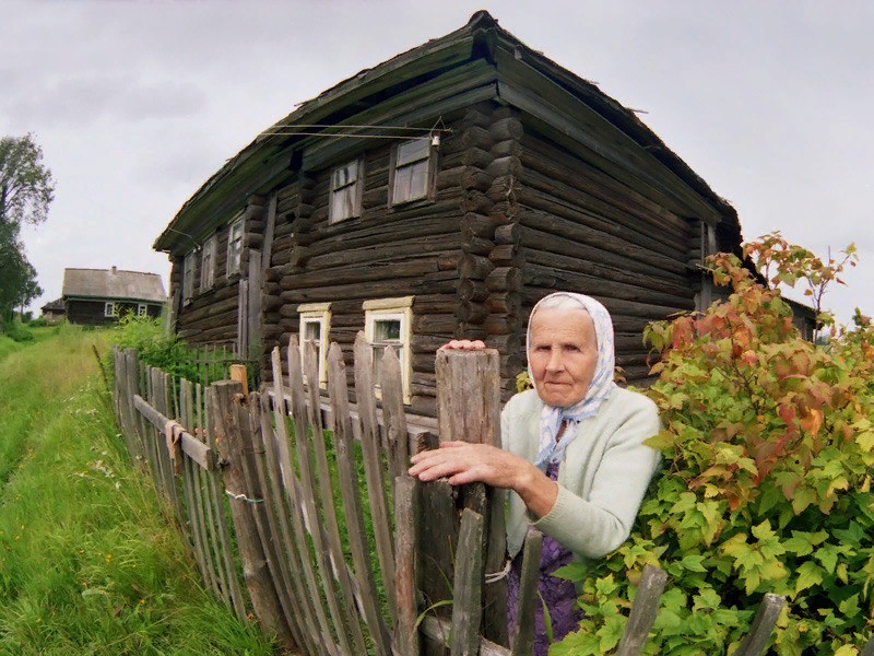
[[[300,366],[300,351],[288,348],[288,379],[292,389],[297,389],[299,396],[304,394],[304,372]],[[318,379],[318,378],[317,378]],[[306,417],[306,403],[298,400],[292,406],[292,418],[294,419],[294,444],[297,449],[297,468],[300,471],[300,484],[303,489],[304,509],[309,524],[309,535],[312,538],[312,548],[316,562],[322,578],[322,594],[328,601],[328,610],[331,621],[340,642],[341,654],[352,654],[349,636],[343,626],[343,616],[340,611],[340,602],[336,598],[333,581],[331,577],[331,566],[328,558],[328,546],[322,540],[319,530],[319,512],[316,508],[318,491],[316,489],[316,478],[312,472],[312,452],[309,444],[309,431]],[[315,426],[314,426],[315,430]]]

